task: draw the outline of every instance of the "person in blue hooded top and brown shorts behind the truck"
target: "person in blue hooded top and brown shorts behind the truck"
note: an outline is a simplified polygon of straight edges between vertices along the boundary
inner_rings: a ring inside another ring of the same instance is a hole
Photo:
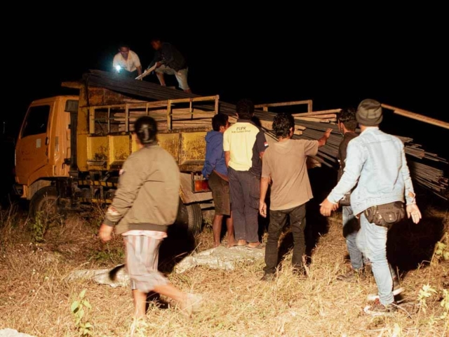
[[[212,119],[213,130],[206,135],[206,160],[202,173],[204,178],[208,179],[215,204],[212,224],[214,247],[220,246],[223,217],[226,217],[227,246],[235,246],[229,180],[227,178],[225,152],[223,151],[223,133],[228,127],[228,116],[226,114],[215,114]]]

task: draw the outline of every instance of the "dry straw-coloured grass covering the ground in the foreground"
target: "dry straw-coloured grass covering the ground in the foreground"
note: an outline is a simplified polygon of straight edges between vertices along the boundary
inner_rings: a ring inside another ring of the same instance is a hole
[[[86,289],[92,308],[84,313],[83,322],[92,324],[92,336],[129,336],[130,289],[67,281],[73,270],[123,263],[119,237],[109,244],[96,237],[100,217],[55,221],[48,225],[43,242],[33,241],[32,219],[20,212],[2,211],[0,220],[0,329],[39,337],[79,336],[71,305]],[[349,268],[338,214],[328,219],[326,232],[317,235],[305,280],[293,275],[290,252],[271,283],[260,281],[263,260],[241,263],[233,271],[195,267],[176,275],[170,266],[191,249],[211,248],[212,232],[206,226],[184,251],[167,239],[161,247],[166,256],[161,265],[180,289],[203,294],[204,310],[188,319],[167,298],[154,300],[145,326],[135,336],[448,336],[448,319],[438,317],[443,314],[443,289],[449,289],[449,263],[425,262],[431,260],[448,223],[447,211],[428,207],[422,224],[405,223],[402,230],[391,232],[389,256],[394,254],[391,260],[401,271],[408,305],[406,311],[384,317],[363,312],[366,295],[376,289],[373,277],[356,283],[335,279]],[[175,239],[182,242],[182,235]],[[426,284],[436,292],[425,298],[424,312],[418,296]]]

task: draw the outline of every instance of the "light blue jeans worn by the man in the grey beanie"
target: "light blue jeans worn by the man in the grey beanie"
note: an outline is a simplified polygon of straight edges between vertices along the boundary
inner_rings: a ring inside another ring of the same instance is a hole
[[[370,260],[377,284],[379,300],[383,305],[393,303],[393,270],[387,261],[387,228],[368,223],[360,214],[360,227],[356,243],[358,249]]]

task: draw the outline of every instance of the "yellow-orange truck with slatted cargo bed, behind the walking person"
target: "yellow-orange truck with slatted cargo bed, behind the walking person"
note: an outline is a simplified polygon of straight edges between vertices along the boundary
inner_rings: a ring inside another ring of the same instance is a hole
[[[218,112],[219,97],[142,100],[135,95],[147,88],[142,81],[109,81],[109,86],[86,79],[64,82],[62,86],[76,89],[78,95],[43,98],[29,105],[15,147],[15,191],[29,200],[31,213],[48,206],[81,211],[93,204],[109,204],[123,162],[137,150],[133,122],[149,115],[158,121],[159,145],[180,168],[177,222],[199,230],[202,210],[213,206],[201,169],[204,137]],[[170,88],[161,91],[175,92]]]

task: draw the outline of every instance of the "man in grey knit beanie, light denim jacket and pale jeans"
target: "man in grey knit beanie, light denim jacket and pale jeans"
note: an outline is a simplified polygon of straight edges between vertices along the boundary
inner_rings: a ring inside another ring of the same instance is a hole
[[[373,206],[406,199],[406,213],[413,223],[420,221],[421,213],[415,202],[404,145],[399,138],[379,129],[382,121],[380,103],[363,100],[358,105],[356,119],[361,134],[349,142],[343,176],[321,203],[320,212],[323,216],[330,216],[344,194],[356,186],[351,192],[351,207],[361,225],[356,244],[371,262],[379,293],[379,298],[366,312],[393,312],[397,310],[397,304],[394,301],[393,275],[387,261],[388,227],[370,223],[367,211]]]

